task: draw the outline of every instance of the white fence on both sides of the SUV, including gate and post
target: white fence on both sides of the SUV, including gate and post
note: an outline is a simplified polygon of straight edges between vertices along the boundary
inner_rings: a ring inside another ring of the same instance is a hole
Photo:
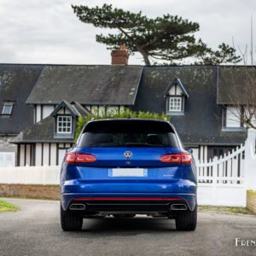
[[[246,206],[246,190],[256,190],[256,132],[245,145],[221,158],[197,163],[198,204]],[[59,184],[61,166],[0,167],[0,183]]]

